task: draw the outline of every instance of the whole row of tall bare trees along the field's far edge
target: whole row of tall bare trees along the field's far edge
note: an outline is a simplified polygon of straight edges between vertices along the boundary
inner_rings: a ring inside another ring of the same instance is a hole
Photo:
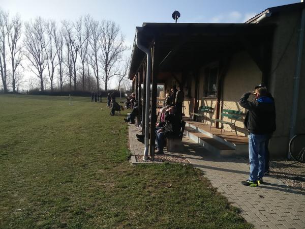
[[[120,27],[113,21],[86,15],[76,22],[37,17],[22,23],[18,15],[10,18],[0,10],[0,74],[5,92],[9,84],[16,91],[18,69],[33,72],[41,91],[46,83],[51,90],[97,91],[103,83],[107,91],[114,77],[119,90],[127,81],[127,50]]]

